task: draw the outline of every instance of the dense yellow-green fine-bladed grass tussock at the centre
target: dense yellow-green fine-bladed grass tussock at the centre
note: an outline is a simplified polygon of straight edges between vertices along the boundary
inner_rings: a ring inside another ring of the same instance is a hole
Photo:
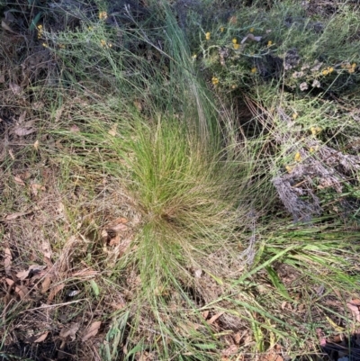
[[[144,221],[138,237],[140,273],[148,275],[150,264],[165,263],[163,271],[178,274],[195,266],[202,251],[236,241],[246,167],[211,149],[178,120],[136,128],[127,145],[125,187]]]

